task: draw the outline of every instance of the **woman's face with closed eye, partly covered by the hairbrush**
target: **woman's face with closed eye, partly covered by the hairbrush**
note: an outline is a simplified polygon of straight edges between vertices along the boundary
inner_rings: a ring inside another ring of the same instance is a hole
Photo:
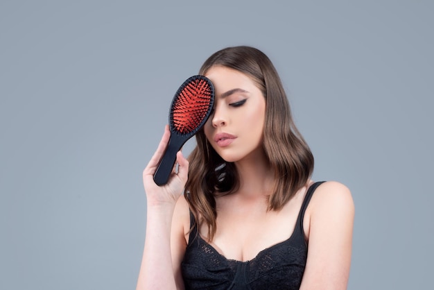
[[[205,74],[214,85],[214,113],[205,135],[227,162],[263,154],[266,100],[249,76],[228,67],[211,67]]]

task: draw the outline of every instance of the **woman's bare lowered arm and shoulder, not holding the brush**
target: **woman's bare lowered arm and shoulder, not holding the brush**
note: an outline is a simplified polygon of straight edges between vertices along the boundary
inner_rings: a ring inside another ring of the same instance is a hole
[[[347,289],[354,224],[351,192],[339,182],[325,182],[306,214],[309,250],[300,290]]]

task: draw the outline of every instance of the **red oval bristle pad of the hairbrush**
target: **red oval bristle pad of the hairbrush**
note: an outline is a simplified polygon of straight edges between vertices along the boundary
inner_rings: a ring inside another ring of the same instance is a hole
[[[207,117],[211,104],[211,87],[206,80],[195,79],[187,83],[173,103],[173,128],[181,134],[193,132]]]

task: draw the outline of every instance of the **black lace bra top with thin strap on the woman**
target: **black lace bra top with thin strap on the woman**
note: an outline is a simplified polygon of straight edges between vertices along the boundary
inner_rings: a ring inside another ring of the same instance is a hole
[[[250,261],[226,259],[193,228],[181,265],[185,289],[299,289],[307,259],[304,212],[321,183],[309,187],[290,238],[261,250]]]

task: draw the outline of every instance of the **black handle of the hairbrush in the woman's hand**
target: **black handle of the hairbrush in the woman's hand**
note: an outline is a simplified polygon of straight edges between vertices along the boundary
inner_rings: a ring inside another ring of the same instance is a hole
[[[157,171],[154,173],[154,181],[157,185],[165,185],[171,176],[173,166],[176,161],[176,153],[180,151],[182,145],[187,141],[185,137],[180,137],[176,133],[171,133],[168,140],[166,151],[160,160]]]

